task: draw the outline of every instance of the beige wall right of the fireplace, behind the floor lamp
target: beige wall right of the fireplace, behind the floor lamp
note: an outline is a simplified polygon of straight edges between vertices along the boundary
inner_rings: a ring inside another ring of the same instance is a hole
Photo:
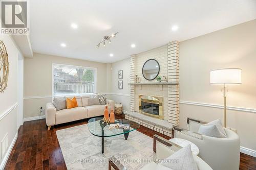
[[[210,70],[241,68],[242,84],[229,86],[227,105],[256,109],[256,20],[180,43],[180,125],[186,117],[221,118],[223,109],[182,104],[223,105],[220,85],[210,85]],[[227,111],[227,126],[238,130],[242,147],[256,151],[256,113]]]

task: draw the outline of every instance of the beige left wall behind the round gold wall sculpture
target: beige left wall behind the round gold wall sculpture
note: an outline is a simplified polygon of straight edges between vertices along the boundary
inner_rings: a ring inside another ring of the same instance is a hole
[[[15,43],[9,36],[0,36],[0,39],[5,43],[6,50],[9,55],[8,85],[4,92],[0,92],[0,141],[2,141],[4,136],[8,133],[8,147],[10,147],[10,144],[15,139],[15,135],[17,133],[17,114],[20,114],[17,111],[18,50]],[[6,153],[2,158],[0,155],[0,163],[2,163],[0,165],[0,169],[3,168],[3,158],[5,156]]]

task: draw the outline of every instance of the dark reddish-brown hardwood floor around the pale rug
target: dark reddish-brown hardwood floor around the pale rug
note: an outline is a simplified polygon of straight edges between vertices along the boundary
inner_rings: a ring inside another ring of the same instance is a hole
[[[120,116],[123,117],[116,115]],[[82,124],[87,124],[87,120],[57,125],[47,131],[45,119],[25,122],[19,129],[5,169],[67,169],[55,131]],[[150,137],[158,134],[170,138],[143,126],[138,131]],[[241,153],[240,169],[256,169],[256,158]]]

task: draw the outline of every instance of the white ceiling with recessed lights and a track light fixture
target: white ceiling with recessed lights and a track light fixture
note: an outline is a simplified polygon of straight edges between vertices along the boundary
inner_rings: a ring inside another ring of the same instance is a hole
[[[35,53],[115,62],[255,18],[255,0],[32,0],[30,38]],[[111,44],[96,47],[115,32]]]

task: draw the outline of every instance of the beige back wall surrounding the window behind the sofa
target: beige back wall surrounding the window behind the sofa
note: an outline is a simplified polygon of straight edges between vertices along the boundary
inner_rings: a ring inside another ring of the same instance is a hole
[[[24,62],[24,117],[39,116],[40,107],[51,102],[52,64],[67,64],[97,68],[97,92],[105,92],[106,63],[34,54]],[[44,114],[44,113],[43,113]]]

